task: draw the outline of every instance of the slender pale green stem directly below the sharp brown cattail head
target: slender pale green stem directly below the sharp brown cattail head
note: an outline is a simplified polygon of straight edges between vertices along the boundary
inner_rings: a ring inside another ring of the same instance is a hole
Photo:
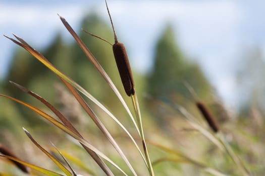
[[[142,125],[141,112],[140,112],[140,108],[139,108],[139,102],[138,102],[136,94],[131,96],[131,98],[132,98],[132,102],[133,102],[134,111],[135,111],[135,114],[136,114],[137,125],[138,125],[138,128],[140,130],[140,136],[141,136],[141,140],[142,140],[142,145],[143,145],[145,158],[146,158],[146,161],[147,161],[149,175],[150,176],[154,176],[152,163],[151,163],[151,160],[150,160],[150,157],[149,157],[149,154],[148,154],[148,150],[147,150],[147,147],[146,147],[146,142],[145,142],[145,139],[144,139],[143,125]]]

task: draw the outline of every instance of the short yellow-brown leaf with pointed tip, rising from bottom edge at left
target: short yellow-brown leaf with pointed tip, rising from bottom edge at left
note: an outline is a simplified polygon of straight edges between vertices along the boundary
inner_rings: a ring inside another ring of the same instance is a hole
[[[59,161],[57,160],[54,156],[52,156],[47,150],[45,150],[43,147],[41,147],[31,136],[31,134],[23,128],[25,131],[26,135],[29,137],[29,139],[43,152],[45,153],[52,161],[55,162],[56,165],[58,165],[61,170],[67,175],[67,176],[72,176],[72,173]]]

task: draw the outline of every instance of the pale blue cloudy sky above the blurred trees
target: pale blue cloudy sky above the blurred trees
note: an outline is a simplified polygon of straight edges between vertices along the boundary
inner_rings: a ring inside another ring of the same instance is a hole
[[[148,72],[157,38],[172,24],[176,41],[198,62],[224,102],[236,102],[235,73],[242,51],[259,47],[265,53],[265,1],[108,1],[119,39],[126,45],[133,69]],[[7,72],[16,47],[3,34],[12,33],[36,49],[52,41],[57,32],[71,36],[57,14],[80,31],[82,17],[96,12],[107,23],[103,0],[0,0],[0,78]]]

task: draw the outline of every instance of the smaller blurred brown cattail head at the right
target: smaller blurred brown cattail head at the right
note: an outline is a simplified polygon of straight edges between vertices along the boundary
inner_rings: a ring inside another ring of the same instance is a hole
[[[202,116],[205,118],[205,120],[207,121],[208,125],[210,126],[210,128],[217,133],[219,131],[219,126],[217,121],[215,120],[214,116],[210,114],[210,112],[208,111],[208,109],[206,108],[206,106],[201,103],[201,102],[196,102],[196,106],[199,109],[199,111],[201,112]]]

